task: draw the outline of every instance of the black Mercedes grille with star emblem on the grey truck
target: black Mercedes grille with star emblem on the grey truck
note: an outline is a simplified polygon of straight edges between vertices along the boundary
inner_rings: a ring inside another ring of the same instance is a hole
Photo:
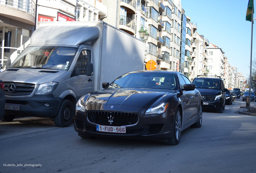
[[[4,94],[9,96],[31,95],[35,89],[35,84],[21,82],[4,82]],[[9,85],[12,84],[12,87]],[[12,88],[12,89],[10,89]]]

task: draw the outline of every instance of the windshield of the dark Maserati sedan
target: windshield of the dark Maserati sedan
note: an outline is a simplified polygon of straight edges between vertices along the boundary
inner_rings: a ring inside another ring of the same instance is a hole
[[[173,74],[131,72],[123,74],[107,88],[153,88],[178,90],[178,84],[176,77]]]

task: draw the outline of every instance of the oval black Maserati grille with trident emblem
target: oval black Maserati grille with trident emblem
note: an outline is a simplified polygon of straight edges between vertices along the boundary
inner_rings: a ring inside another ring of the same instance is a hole
[[[127,126],[138,122],[137,113],[127,112],[88,111],[87,117],[91,123],[98,125]]]

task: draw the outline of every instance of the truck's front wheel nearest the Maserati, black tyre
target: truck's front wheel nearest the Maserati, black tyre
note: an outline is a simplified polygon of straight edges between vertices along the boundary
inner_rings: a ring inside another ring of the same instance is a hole
[[[68,127],[74,117],[74,105],[69,100],[63,100],[59,111],[54,117],[54,123],[58,127]]]

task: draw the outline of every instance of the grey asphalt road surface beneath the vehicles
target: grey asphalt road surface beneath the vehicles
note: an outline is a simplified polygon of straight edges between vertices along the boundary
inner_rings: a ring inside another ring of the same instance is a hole
[[[0,173],[255,173],[256,117],[236,114],[241,103],[204,111],[202,127],[182,131],[176,146],[82,139],[47,119],[0,121]]]

